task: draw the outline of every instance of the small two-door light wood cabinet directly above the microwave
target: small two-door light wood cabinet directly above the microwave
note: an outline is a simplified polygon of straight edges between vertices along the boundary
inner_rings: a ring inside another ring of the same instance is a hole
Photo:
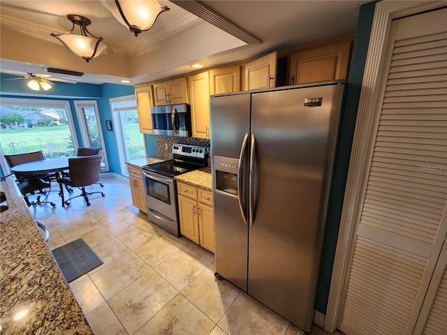
[[[156,106],[189,103],[186,77],[154,83],[154,104]]]

